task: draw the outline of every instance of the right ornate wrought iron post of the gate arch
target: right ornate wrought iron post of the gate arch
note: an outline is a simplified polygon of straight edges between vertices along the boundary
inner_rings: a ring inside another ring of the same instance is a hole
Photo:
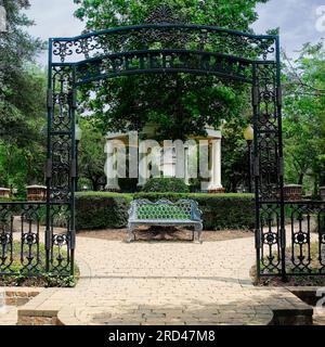
[[[276,43],[276,42],[275,42]],[[276,49],[277,49],[276,43]],[[281,80],[276,61],[253,64],[257,271],[286,278]]]

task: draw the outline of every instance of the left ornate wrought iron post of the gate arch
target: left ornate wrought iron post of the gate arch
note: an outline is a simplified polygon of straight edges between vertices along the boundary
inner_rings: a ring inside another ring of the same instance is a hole
[[[75,69],[52,63],[49,41],[46,271],[73,275],[75,261]],[[55,227],[66,232],[53,232]]]

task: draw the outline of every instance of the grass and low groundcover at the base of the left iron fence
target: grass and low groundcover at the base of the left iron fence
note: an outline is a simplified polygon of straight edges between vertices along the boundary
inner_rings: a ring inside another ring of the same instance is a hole
[[[35,256],[36,248],[32,249]],[[28,250],[24,252],[24,259],[27,264]],[[55,255],[54,255],[55,256]],[[66,258],[66,250],[62,250],[62,256]],[[36,259],[32,265],[36,265]],[[76,281],[79,278],[79,268],[75,265],[75,275],[58,274],[54,272],[46,272],[46,249],[43,244],[39,244],[39,264],[37,273],[32,274],[32,270],[28,273],[28,270],[23,270],[24,267],[21,261],[21,242],[13,242],[13,262],[10,266],[12,273],[0,275],[0,286],[44,286],[44,287],[73,287],[76,285]],[[5,271],[5,270],[4,270]]]

